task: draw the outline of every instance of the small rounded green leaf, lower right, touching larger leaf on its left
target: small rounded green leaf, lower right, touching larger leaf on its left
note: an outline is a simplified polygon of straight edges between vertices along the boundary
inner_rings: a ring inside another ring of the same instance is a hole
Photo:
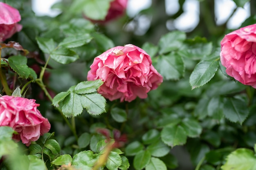
[[[202,132],[202,127],[198,121],[189,118],[184,118],[180,126],[183,127],[189,137],[198,137]]]

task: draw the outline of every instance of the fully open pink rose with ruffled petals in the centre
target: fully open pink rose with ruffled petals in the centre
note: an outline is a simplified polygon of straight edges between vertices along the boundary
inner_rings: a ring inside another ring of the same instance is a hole
[[[103,52],[94,59],[90,68],[87,79],[101,79],[104,83],[98,92],[109,100],[120,98],[121,102],[131,102],[137,96],[146,98],[147,93],[163,81],[150,56],[132,44]]]

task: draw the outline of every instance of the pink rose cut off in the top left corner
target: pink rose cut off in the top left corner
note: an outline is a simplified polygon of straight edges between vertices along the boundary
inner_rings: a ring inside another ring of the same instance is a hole
[[[0,2],[0,42],[22,29],[22,25],[17,23],[20,20],[20,13],[17,9]]]

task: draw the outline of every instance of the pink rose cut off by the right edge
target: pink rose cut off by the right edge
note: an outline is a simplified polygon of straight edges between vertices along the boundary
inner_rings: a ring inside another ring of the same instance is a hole
[[[256,88],[256,24],[225,35],[220,61],[229,76]]]

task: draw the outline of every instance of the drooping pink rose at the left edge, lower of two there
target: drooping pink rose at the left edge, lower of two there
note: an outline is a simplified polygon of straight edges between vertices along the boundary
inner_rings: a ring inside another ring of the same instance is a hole
[[[0,97],[0,126],[10,126],[19,135],[14,138],[22,140],[23,144],[29,146],[31,141],[36,141],[47,133],[51,127],[47,118],[44,118],[36,107],[34,99],[14,96]]]

